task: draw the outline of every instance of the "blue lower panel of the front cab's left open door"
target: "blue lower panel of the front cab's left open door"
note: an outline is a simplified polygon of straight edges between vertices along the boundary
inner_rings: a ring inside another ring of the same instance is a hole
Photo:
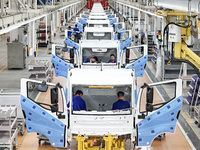
[[[65,146],[65,124],[23,95],[21,95],[21,107],[26,114],[28,132],[45,135],[54,147]]]

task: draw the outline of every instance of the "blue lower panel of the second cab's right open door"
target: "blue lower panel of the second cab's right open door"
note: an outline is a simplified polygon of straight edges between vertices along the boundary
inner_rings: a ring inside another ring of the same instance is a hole
[[[148,56],[143,56],[140,59],[136,60],[135,62],[131,63],[126,67],[126,69],[134,69],[135,70],[135,77],[143,77],[144,75],[144,67],[147,63]]]

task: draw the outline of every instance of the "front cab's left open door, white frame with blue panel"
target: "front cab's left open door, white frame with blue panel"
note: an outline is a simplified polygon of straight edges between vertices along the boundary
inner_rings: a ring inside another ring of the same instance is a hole
[[[67,147],[68,115],[60,84],[21,79],[20,101],[28,132],[46,136],[54,147]]]

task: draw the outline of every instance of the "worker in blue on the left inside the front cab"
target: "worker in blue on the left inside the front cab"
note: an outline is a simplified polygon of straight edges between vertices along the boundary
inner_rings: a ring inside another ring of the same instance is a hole
[[[73,102],[74,111],[86,110],[86,104],[82,96],[83,96],[83,92],[81,90],[77,90],[75,93],[75,96],[73,96],[72,102]],[[70,103],[67,104],[68,108],[69,108],[69,105]]]

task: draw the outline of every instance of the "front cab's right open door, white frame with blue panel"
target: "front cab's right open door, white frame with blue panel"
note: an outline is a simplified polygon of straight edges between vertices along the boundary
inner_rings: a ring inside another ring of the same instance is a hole
[[[158,89],[162,92],[164,100],[158,94]],[[140,88],[137,102],[137,146],[150,146],[158,135],[174,133],[181,107],[181,79],[144,84]]]

